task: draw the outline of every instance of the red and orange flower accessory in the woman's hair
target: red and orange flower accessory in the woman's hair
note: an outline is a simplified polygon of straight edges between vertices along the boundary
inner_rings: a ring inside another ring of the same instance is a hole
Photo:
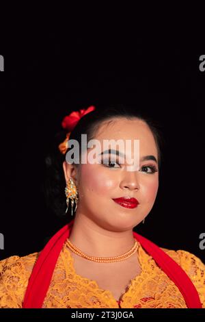
[[[64,127],[64,129],[67,129],[69,132],[66,134],[66,139],[64,140],[64,142],[60,143],[58,146],[59,151],[62,154],[66,153],[66,150],[68,149],[68,140],[70,137],[70,133],[72,132],[74,127],[77,125],[77,123],[79,122],[81,117],[83,117],[85,114],[92,112],[95,109],[96,109],[95,106],[89,106],[89,108],[84,108],[79,111],[71,112],[69,115],[64,117],[61,125],[62,125],[62,127]]]

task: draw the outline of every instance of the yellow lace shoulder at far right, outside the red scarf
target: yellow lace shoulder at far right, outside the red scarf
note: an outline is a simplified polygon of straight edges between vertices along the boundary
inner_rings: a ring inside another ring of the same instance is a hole
[[[189,251],[162,248],[187,273],[199,293],[203,308],[205,308],[205,264],[200,258]]]

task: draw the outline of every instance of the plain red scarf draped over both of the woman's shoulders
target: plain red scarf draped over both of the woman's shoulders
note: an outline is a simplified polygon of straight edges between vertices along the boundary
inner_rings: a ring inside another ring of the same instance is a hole
[[[23,308],[42,308],[44,298],[49,288],[55,264],[59,253],[70,236],[74,220],[61,228],[40,252],[38,260],[33,267],[29,284],[25,293]],[[133,232],[143,249],[154,258],[156,264],[167,274],[184,297],[188,308],[202,308],[200,297],[187,273],[171,257],[145,237]]]

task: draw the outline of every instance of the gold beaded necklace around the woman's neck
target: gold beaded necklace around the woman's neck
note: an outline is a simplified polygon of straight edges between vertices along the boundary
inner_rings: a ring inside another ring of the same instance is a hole
[[[69,239],[66,240],[66,245],[68,248],[77,255],[86,258],[87,260],[92,260],[93,262],[120,262],[121,260],[126,260],[130,256],[132,256],[134,253],[136,253],[137,249],[139,248],[139,244],[137,243],[137,240],[135,240],[134,246],[131,248],[130,251],[127,251],[126,253],[123,253],[122,255],[113,256],[113,257],[94,257],[94,256],[88,256],[83,251],[80,251],[77,247],[72,245]]]

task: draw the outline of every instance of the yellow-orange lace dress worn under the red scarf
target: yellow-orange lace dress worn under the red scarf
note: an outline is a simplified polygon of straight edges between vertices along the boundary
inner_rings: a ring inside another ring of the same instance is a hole
[[[188,251],[163,249],[186,271],[205,308],[205,265]],[[42,308],[187,308],[178,287],[139,245],[141,273],[126,288],[120,301],[94,280],[77,275],[70,250],[64,244]],[[22,308],[29,276],[38,253],[0,261],[0,308]]]

